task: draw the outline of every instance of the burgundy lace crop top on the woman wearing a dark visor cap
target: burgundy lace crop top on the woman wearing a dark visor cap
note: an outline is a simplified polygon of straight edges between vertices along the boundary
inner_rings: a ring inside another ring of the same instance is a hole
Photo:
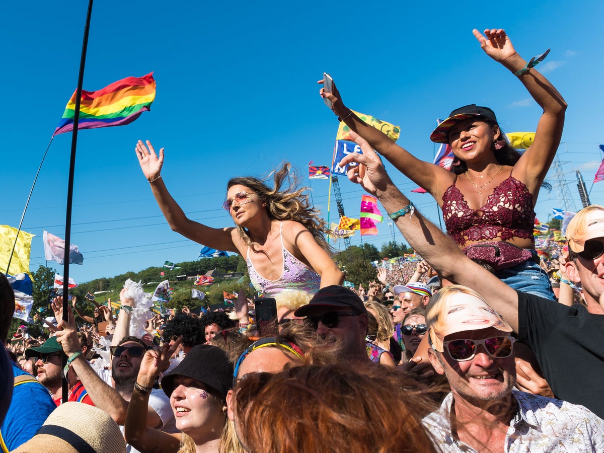
[[[454,183],[443,194],[443,217],[447,233],[459,245],[495,237],[533,239],[533,195],[511,174],[477,210],[467,206],[463,193]]]

